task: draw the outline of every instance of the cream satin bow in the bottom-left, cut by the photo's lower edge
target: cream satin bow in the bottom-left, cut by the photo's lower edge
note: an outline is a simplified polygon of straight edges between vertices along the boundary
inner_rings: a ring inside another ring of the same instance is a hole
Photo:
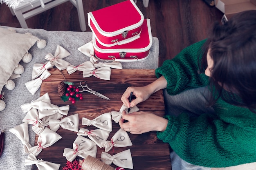
[[[61,164],[43,161],[42,159],[36,159],[33,154],[27,155],[25,159],[25,166],[36,164],[38,170],[58,170]]]

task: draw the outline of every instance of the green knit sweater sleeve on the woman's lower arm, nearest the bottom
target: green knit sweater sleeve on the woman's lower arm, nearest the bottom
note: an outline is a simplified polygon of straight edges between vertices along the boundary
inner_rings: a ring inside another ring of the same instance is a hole
[[[215,108],[217,115],[166,115],[167,128],[157,137],[194,165],[220,168],[255,162],[256,114],[229,106]]]

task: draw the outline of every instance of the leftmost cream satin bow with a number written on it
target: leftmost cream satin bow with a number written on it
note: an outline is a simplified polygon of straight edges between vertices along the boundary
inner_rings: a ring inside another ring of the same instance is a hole
[[[62,120],[49,119],[49,127],[51,130],[56,132],[60,127],[63,129],[78,132],[79,117],[78,113],[64,117]]]

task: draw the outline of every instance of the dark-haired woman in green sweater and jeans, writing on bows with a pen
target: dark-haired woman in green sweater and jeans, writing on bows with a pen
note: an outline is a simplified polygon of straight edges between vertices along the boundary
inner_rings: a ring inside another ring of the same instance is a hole
[[[256,10],[216,24],[207,40],[166,60],[156,76],[147,86],[128,87],[121,100],[133,107],[164,89],[166,116],[124,112],[121,128],[157,130],[174,151],[173,170],[256,162]],[[130,92],[136,97],[131,103]]]

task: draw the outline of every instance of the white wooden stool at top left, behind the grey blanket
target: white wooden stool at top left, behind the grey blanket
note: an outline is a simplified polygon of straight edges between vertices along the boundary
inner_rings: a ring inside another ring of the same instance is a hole
[[[18,7],[15,8],[10,7],[10,10],[13,16],[16,15],[18,21],[20,22],[20,26],[27,29],[28,27],[25,21],[26,19],[67,1],[72,2],[72,4],[76,7],[80,28],[82,31],[86,31],[82,0],[33,0],[31,2],[22,2],[18,5]]]

